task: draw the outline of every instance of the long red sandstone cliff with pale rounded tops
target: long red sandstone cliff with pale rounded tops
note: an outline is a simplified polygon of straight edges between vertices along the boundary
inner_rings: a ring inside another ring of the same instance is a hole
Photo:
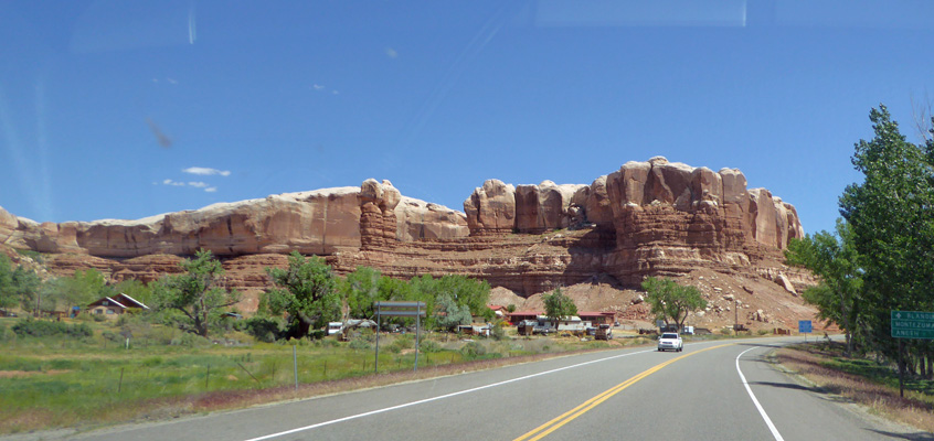
[[[268,283],[263,265],[285,265],[293,250],[325,256],[340,272],[367,265],[401,278],[461,273],[529,295],[697,268],[765,277],[775,269],[764,262],[781,262],[781,249],[803,236],[795,207],[747,190],[739,170],[661,157],[627,162],[590,185],[488,180],[464,213],[376,180],[139,220],[39,224],[0,208],[0,244],[50,255],[53,272],[93,267],[148,281],[203,248],[224,260],[230,286],[247,292]]]

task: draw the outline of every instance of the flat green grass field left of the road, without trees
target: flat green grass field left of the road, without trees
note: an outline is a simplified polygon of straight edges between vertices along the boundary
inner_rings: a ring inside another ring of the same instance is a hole
[[[231,400],[236,394],[291,390],[294,366],[301,385],[372,377],[374,368],[373,344],[362,338],[350,343],[333,337],[252,343],[245,334],[232,333],[229,338],[250,343],[185,344],[191,341],[180,331],[152,325],[146,333],[149,337],[130,338],[127,347],[125,341],[115,341],[120,329],[113,323],[84,322],[93,329],[91,337],[20,337],[10,331],[17,320],[0,319],[0,433],[203,411],[199,402]],[[160,340],[177,344],[161,344]],[[438,333],[425,340],[431,343],[423,343],[418,354],[423,369],[608,346],[606,342],[544,337],[468,343]],[[380,374],[411,372],[414,362],[411,335],[381,337]],[[236,400],[244,401],[242,397]],[[225,407],[209,406],[208,410],[213,408]]]

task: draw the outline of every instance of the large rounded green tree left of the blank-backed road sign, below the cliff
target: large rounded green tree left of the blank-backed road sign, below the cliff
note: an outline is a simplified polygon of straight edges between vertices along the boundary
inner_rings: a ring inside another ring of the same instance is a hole
[[[288,268],[266,268],[278,287],[266,291],[261,308],[273,315],[288,314],[294,332],[305,337],[310,329],[320,329],[340,319],[341,299],[337,277],[325,259],[306,259],[297,251],[288,257]]]

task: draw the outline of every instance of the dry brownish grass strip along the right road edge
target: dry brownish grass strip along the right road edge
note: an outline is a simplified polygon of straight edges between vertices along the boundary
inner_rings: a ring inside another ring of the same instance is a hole
[[[934,397],[905,389],[902,398],[898,387],[831,367],[828,362],[834,357],[834,353],[806,346],[776,352],[778,363],[804,376],[821,391],[866,406],[871,413],[934,432]]]

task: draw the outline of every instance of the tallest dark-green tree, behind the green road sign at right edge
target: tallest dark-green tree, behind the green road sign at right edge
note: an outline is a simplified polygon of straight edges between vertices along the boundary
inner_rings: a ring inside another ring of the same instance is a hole
[[[893,356],[889,311],[934,308],[934,143],[908,142],[885,106],[869,119],[874,137],[852,155],[863,181],[843,191],[840,214],[862,257],[870,344]]]

